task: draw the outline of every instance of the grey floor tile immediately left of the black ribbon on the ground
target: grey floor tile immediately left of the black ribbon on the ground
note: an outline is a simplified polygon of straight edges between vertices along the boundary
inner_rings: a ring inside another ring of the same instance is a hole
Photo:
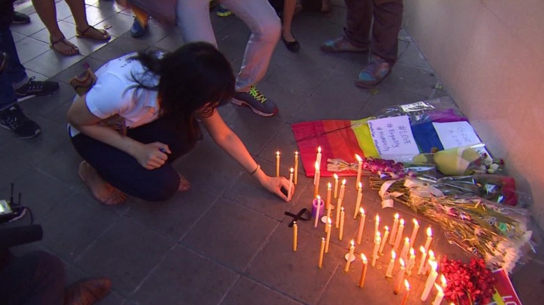
[[[277,225],[277,221],[222,199],[192,227],[181,243],[229,269],[241,271]]]

